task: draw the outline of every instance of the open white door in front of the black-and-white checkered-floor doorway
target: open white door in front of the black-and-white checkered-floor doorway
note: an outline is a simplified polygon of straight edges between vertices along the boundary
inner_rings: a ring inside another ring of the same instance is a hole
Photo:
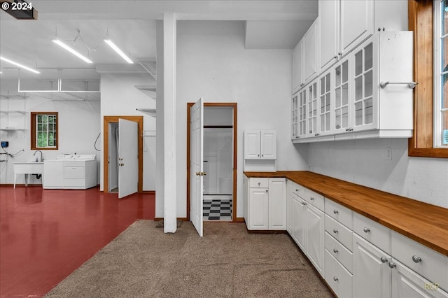
[[[204,100],[202,97],[190,111],[190,221],[202,237],[202,194],[204,175]]]

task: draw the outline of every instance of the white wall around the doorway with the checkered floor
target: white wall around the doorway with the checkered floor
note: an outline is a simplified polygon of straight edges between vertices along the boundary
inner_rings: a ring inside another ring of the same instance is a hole
[[[204,97],[238,103],[237,217],[242,218],[245,129],[275,129],[279,169],[307,169],[290,141],[292,50],[245,50],[244,22],[209,21],[178,22],[177,47],[177,216],[186,217],[187,103]]]

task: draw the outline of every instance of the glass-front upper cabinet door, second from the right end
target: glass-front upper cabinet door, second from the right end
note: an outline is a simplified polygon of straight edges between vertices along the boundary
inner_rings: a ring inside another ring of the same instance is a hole
[[[335,118],[333,132],[349,132],[349,59],[346,58],[333,69],[335,77]]]

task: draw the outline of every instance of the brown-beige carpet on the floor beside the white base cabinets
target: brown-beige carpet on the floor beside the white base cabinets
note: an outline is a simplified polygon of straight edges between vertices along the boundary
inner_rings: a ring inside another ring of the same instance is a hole
[[[45,297],[333,297],[287,234],[139,220]],[[159,224],[160,225],[160,224]]]

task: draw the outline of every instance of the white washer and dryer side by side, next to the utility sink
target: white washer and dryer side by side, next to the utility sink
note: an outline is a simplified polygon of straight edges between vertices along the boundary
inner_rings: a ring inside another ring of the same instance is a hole
[[[43,188],[86,190],[97,186],[96,155],[58,155],[43,161]]]

